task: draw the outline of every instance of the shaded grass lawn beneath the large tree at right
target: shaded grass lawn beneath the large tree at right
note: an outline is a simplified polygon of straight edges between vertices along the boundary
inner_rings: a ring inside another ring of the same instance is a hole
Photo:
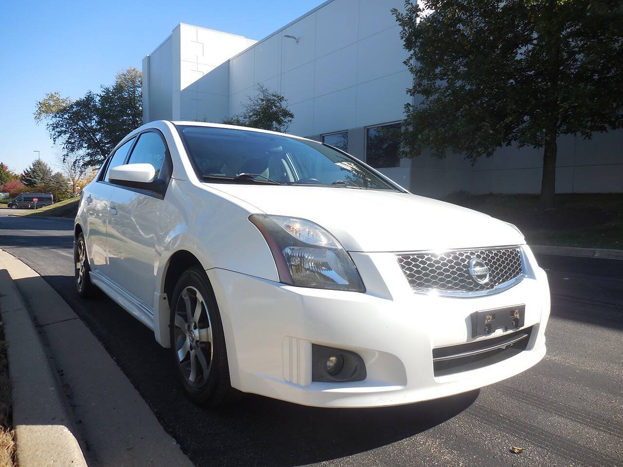
[[[553,210],[538,195],[451,194],[444,201],[515,224],[531,245],[623,250],[623,194],[558,194]]]

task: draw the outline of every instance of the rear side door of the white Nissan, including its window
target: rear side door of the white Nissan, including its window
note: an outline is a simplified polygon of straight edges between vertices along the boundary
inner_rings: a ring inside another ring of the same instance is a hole
[[[100,174],[97,182],[89,184],[85,189],[85,211],[87,212],[87,225],[85,241],[87,242],[87,253],[92,271],[97,271],[109,275],[107,262],[106,231],[110,212],[108,206],[110,197],[115,190],[115,186],[108,182],[108,171],[111,167],[122,166],[136,138],[130,139],[127,143],[113,153],[108,158],[105,170]]]

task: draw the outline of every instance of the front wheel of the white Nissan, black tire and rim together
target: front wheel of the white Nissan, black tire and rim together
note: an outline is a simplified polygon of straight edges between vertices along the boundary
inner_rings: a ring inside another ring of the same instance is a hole
[[[184,300],[183,293],[188,302]],[[197,316],[197,301],[201,306],[198,319],[194,319]],[[193,402],[209,407],[220,407],[231,402],[237,391],[230,384],[221,314],[205,271],[199,267],[184,271],[179,276],[169,304],[171,359],[186,394]],[[188,314],[187,309],[194,310],[194,313]],[[182,329],[180,318],[183,318],[186,329]],[[210,329],[211,341],[207,340],[206,329]]]

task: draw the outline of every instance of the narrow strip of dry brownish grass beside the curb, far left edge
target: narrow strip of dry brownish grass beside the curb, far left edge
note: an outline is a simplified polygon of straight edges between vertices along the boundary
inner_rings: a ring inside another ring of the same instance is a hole
[[[6,341],[2,323],[0,323],[0,467],[14,466],[15,433],[12,429],[12,400]]]

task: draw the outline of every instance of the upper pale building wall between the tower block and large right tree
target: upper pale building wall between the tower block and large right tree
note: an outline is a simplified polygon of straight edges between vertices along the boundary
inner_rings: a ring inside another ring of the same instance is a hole
[[[287,98],[293,134],[400,120],[411,75],[402,64],[406,52],[390,12],[394,6],[402,1],[325,2],[233,57],[230,115],[262,83]]]

